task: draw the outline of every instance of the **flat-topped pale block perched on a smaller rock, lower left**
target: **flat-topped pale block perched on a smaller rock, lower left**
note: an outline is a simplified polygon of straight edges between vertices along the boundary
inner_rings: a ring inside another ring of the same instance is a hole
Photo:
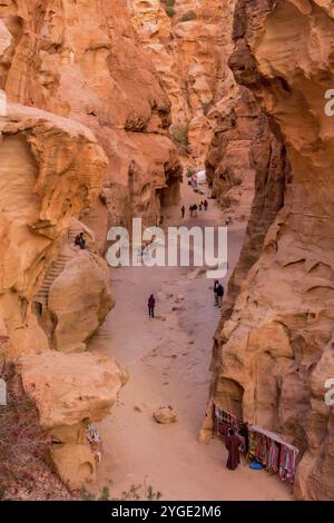
[[[90,353],[48,351],[22,356],[20,372],[46,430],[102,420],[127,381],[114,359]]]

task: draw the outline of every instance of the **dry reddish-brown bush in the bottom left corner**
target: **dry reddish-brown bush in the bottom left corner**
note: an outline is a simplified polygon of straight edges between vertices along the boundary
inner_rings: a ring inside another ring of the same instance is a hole
[[[0,366],[7,383],[7,405],[0,405],[0,499],[68,499],[68,491],[45,463],[49,437],[39,413],[23,392],[14,365]]]

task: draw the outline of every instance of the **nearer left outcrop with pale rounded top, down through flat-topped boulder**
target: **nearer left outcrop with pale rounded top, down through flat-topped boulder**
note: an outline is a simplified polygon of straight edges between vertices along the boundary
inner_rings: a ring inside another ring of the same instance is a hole
[[[109,412],[125,383],[110,358],[63,354],[82,345],[112,306],[105,262],[72,247],[49,296],[56,319],[51,336],[35,300],[50,263],[67,244],[72,216],[97,198],[107,157],[82,125],[21,105],[7,106],[0,130],[1,361],[17,364],[41,427],[65,434],[50,456],[65,483],[79,487],[96,468],[85,427]]]

